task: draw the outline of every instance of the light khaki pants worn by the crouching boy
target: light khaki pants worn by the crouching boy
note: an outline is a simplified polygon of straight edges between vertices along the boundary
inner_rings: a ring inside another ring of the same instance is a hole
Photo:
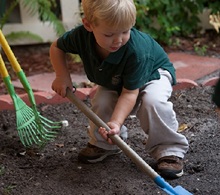
[[[156,160],[163,156],[175,155],[183,158],[188,150],[188,141],[177,133],[178,122],[173,104],[168,101],[172,93],[172,78],[168,71],[159,70],[161,78],[146,83],[139,92],[134,113],[148,139],[146,151]],[[98,87],[92,99],[92,110],[105,122],[111,118],[118,94],[104,87]],[[114,150],[98,133],[98,128],[90,122],[89,142],[100,148]],[[122,138],[127,137],[127,128],[121,128]],[[140,140],[141,141],[141,140]]]

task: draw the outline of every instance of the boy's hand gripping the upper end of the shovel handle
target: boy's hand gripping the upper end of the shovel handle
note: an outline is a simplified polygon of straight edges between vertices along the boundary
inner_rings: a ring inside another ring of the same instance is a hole
[[[66,97],[67,88],[73,88],[71,79],[68,77],[56,77],[52,83],[52,89],[62,97]]]

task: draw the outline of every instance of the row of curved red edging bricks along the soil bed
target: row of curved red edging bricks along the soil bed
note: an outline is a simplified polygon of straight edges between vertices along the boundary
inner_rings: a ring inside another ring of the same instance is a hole
[[[214,86],[219,77],[213,77],[204,81],[202,86]],[[177,84],[173,87],[173,90],[181,90],[187,88],[198,87],[199,85],[190,79],[177,79]],[[75,92],[76,96],[81,100],[92,98],[96,92],[97,87],[93,88],[78,88]],[[19,97],[27,104],[30,105],[27,94],[19,95]],[[34,97],[36,104],[47,103],[47,104],[59,104],[63,102],[69,102],[67,98],[62,98],[59,95],[49,92],[35,92]],[[10,95],[0,96],[0,110],[12,110],[14,105]]]

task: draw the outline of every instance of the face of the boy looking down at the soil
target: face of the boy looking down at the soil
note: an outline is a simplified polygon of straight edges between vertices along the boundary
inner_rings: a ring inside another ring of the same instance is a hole
[[[131,27],[116,29],[106,25],[104,22],[99,22],[97,26],[89,25],[89,28],[89,31],[93,32],[97,44],[107,52],[119,50],[130,38]]]

